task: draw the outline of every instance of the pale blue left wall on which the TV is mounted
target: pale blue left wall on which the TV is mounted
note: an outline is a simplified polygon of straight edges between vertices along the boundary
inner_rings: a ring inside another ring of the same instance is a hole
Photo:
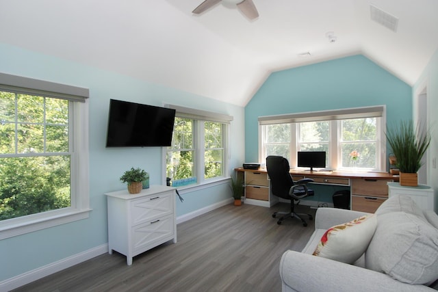
[[[231,115],[234,120],[231,122],[230,169],[244,161],[243,107],[2,43],[0,72],[90,89],[92,208],[87,220],[0,240],[0,282],[107,243],[107,208],[103,194],[125,189],[119,177],[131,166],[149,172],[151,184],[164,181],[162,148],[105,148],[110,98],[157,106],[172,103]],[[183,191],[183,198],[184,202],[177,200],[177,217],[231,198],[231,189],[226,182],[196,191],[187,189]]]

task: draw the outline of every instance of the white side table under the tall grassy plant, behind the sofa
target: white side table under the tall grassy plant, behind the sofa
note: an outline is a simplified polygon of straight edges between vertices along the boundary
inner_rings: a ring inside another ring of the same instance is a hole
[[[388,183],[388,197],[396,195],[407,195],[423,210],[437,212],[435,194],[432,187],[418,185],[417,187],[404,187],[400,183]]]

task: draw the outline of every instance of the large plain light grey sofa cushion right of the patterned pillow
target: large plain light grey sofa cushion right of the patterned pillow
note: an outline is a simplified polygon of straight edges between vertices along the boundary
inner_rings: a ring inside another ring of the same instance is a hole
[[[433,282],[438,278],[438,230],[412,213],[378,214],[365,267],[409,284]]]

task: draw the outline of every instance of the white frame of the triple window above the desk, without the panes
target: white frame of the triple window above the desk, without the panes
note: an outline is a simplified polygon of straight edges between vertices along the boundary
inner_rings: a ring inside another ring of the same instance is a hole
[[[284,114],[276,116],[261,116],[259,117],[259,161],[266,159],[266,146],[264,144],[266,137],[266,125],[268,124],[291,124],[292,140],[289,146],[289,164],[291,168],[296,166],[296,151],[298,149],[298,127],[300,122],[318,122],[323,120],[329,121],[329,165],[327,168],[332,170],[351,170],[351,168],[342,168],[339,166],[339,159],[342,157],[339,147],[340,144],[340,123],[342,120],[352,118],[376,118],[376,168],[359,168],[363,171],[379,171],[386,172],[387,155],[386,155],[386,139],[385,139],[385,125],[386,125],[386,106],[378,105],[373,107],[355,107],[348,109],[335,109],[329,111],[310,111],[297,114]],[[332,150],[333,149],[333,150]],[[380,155],[379,155],[380,154]]]

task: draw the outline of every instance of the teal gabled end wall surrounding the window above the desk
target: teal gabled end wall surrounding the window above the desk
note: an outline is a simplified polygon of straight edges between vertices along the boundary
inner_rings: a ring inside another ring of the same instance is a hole
[[[259,116],[372,105],[411,119],[412,89],[363,55],[274,72],[245,107],[245,160],[258,161]]]

